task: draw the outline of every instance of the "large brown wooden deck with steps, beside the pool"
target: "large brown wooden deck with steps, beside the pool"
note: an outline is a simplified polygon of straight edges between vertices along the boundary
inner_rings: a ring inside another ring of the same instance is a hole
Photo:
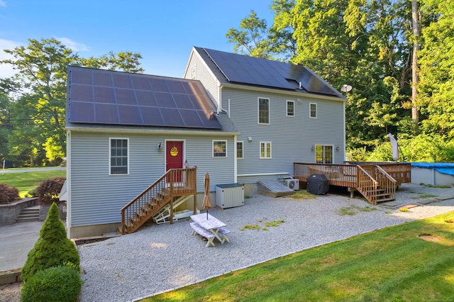
[[[359,191],[370,203],[377,204],[395,199],[397,186],[411,181],[411,166],[390,162],[294,163],[294,178],[307,182],[311,174],[323,174],[331,186]]]

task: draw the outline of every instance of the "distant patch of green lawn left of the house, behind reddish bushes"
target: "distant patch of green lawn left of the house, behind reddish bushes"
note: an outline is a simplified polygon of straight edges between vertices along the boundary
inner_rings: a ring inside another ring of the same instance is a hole
[[[0,173],[0,184],[7,184],[19,190],[21,198],[35,189],[40,181],[55,177],[66,177],[65,170]]]

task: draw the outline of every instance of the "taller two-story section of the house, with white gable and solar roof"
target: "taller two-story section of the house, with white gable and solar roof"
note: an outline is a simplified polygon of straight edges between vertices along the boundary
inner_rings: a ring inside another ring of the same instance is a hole
[[[236,137],[236,181],[293,175],[294,162],[342,164],[345,96],[309,68],[193,47],[184,78],[204,85]]]

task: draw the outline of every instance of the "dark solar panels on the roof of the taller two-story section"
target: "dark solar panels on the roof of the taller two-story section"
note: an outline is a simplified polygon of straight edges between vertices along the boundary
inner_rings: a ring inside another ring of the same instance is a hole
[[[338,96],[336,90],[303,65],[205,49],[229,82],[295,90],[292,82],[314,94]]]

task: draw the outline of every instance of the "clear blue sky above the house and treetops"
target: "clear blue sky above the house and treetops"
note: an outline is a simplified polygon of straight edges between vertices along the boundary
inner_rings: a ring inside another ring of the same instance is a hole
[[[192,46],[233,52],[226,33],[253,9],[272,24],[271,0],[0,0],[0,57],[28,38],[56,38],[81,57],[139,52],[146,74],[182,77]],[[0,65],[0,77],[11,76]]]

